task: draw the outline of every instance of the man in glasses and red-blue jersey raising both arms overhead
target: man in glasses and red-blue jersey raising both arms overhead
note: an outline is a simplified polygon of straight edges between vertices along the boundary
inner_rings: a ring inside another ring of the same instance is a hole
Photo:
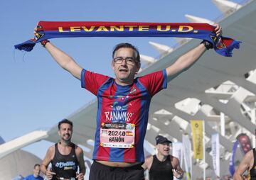
[[[217,24],[216,36],[221,34]],[[37,35],[37,29],[35,29]],[[48,40],[41,42],[53,59],[79,79],[82,88],[97,96],[97,127],[90,180],[144,179],[143,142],[151,98],[213,45],[206,40],[158,72],[135,78],[140,69],[139,51],[129,43],[114,47],[111,67],[115,78],[90,72]]]

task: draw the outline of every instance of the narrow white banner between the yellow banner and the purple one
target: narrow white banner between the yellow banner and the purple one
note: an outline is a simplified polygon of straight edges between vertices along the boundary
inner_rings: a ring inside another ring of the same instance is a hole
[[[211,135],[213,169],[216,176],[220,176],[220,143],[218,133]]]

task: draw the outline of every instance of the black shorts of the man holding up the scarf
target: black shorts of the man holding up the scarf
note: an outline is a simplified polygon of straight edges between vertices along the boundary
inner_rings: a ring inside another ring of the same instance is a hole
[[[94,161],[89,180],[144,180],[142,164],[132,167],[109,167]]]

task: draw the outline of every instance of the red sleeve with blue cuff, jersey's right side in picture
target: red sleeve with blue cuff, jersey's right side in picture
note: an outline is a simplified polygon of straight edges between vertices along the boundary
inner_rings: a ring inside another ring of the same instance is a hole
[[[156,93],[167,87],[166,69],[139,77],[139,81],[146,87],[149,94],[154,96]]]

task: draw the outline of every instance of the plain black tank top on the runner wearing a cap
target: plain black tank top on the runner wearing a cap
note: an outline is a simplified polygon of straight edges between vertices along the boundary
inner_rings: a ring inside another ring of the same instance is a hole
[[[149,170],[149,180],[173,180],[174,174],[172,169],[170,156],[168,156],[164,162],[161,162],[157,159],[156,155],[154,155]]]

